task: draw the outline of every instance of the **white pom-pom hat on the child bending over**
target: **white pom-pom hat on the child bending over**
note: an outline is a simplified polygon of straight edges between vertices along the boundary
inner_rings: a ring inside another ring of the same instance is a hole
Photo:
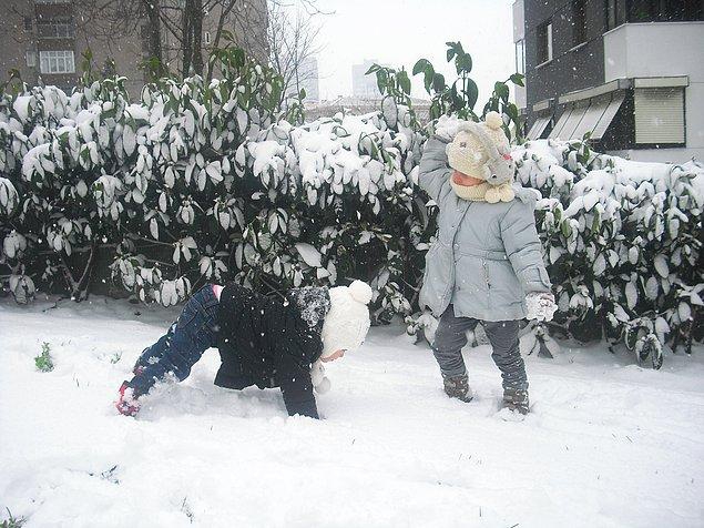
[[[337,286],[329,291],[330,309],[323,323],[323,355],[329,357],[337,351],[359,348],[369,332],[369,307],[371,288],[367,283],[355,281],[349,286]]]

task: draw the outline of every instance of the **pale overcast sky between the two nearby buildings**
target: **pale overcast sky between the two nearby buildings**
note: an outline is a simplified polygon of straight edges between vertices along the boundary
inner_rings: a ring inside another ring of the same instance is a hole
[[[323,28],[318,54],[320,97],[351,94],[351,65],[377,59],[391,67],[412,69],[429,59],[449,73],[447,41],[461,41],[473,59],[472,75],[479,101],[493,81],[514,72],[512,0],[318,0],[331,14]],[[455,79],[455,78],[452,78]],[[427,98],[422,77],[414,81],[414,97]]]

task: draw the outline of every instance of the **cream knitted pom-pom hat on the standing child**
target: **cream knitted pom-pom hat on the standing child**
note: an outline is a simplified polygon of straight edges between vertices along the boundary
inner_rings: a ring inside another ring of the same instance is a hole
[[[489,112],[484,122],[463,121],[447,145],[448,163],[452,169],[494,187],[486,192],[489,203],[510,202],[516,197],[511,189],[513,160],[502,124],[497,112]]]

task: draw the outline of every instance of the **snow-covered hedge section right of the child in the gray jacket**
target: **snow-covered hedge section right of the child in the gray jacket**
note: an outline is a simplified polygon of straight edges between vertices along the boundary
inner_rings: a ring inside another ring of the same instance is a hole
[[[564,334],[623,341],[655,367],[669,341],[691,349],[704,167],[636,163],[583,142],[527,142],[512,155],[518,180],[543,196],[539,231]]]

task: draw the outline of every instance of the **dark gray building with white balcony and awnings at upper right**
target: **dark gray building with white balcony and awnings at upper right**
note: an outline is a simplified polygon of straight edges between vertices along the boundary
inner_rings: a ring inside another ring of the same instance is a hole
[[[517,0],[529,139],[634,160],[704,160],[703,0]]]

